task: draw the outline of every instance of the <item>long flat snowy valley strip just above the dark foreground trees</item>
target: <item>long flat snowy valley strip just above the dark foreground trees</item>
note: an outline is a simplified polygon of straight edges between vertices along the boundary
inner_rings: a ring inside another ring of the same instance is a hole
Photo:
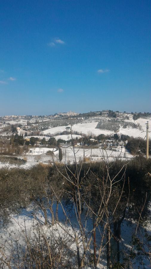
[[[47,154],[48,151],[52,151],[53,155]],[[86,161],[101,161],[102,158],[109,159],[109,161],[113,161],[115,158],[121,158],[123,160],[130,159],[133,156],[125,152],[125,148],[121,148],[118,146],[116,149],[113,150],[106,150],[102,151],[100,148],[93,148],[93,149],[84,149],[82,147],[75,147],[76,153],[76,161],[81,161],[84,156],[87,158]],[[73,163],[75,161],[73,147],[72,146],[64,146],[62,147],[62,163]],[[19,155],[18,158],[24,159],[25,162],[22,163],[21,161],[7,161],[7,162],[0,162],[0,167],[21,167],[21,168],[30,168],[38,163],[54,163],[59,162],[59,150],[56,148],[44,148],[44,147],[36,147],[31,148],[29,152],[23,155]]]

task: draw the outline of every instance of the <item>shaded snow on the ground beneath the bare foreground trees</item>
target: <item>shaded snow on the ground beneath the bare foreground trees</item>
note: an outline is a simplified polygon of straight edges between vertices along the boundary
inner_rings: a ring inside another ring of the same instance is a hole
[[[66,208],[64,208],[65,211]],[[56,210],[56,205],[54,204],[54,212]],[[47,215],[48,215],[48,222],[51,224],[52,218],[51,218],[51,214],[50,211],[47,210]],[[67,213],[67,215],[70,216],[70,221],[72,224],[74,224],[74,227],[76,227],[76,231],[78,234],[78,230],[79,230],[79,225],[77,223],[76,220],[76,216],[74,213],[74,209],[70,212]],[[13,246],[16,249],[16,240],[19,244],[19,246],[23,247],[25,244],[25,240],[24,240],[24,230],[26,227],[26,233],[27,236],[28,234],[30,234],[30,236],[34,235],[34,231],[33,231],[33,225],[37,225],[40,224],[41,227],[41,231],[42,233],[50,236],[52,230],[54,231],[54,233],[56,234],[56,236],[60,235],[63,236],[64,235],[64,231],[61,228],[61,226],[64,229],[68,230],[68,234],[70,234],[71,236],[73,236],[73,231],[70,227],[70,224],[67,222],[67,226],[65,226],[64,224],[64,220],[65,220],[65,216],[63,214],[63,211],[61,209],[61,206],[59,205],[58,207],[58,219],[60,222],[60,226],[58,224],[54,224],[54,226],[52,227],[51,225],[43,225],[44,224],[44,213],[41,210],[37,210],[36,212],[34,212],[33,214],[33,204],[30,204],[29,207],[24,208],[20,211],[20,213],[18,215],[11,215],[11,223],[7,226],[7,229],[4,229],[4,227],[0,226],[0,245],[2,247],[6,247],[6,251],[5,253],[9,256],[10,254],[10,250],[11,247]],[[87,225],[86,225],[86,233],[90,232],[90,230],[93,229],[93,221],[92,219],[88,219],[87,218]],[[101,233],[102,233],[102,229],[103,227],[99,226],[99,229],[96,228],[96,251],[98,254],[98,247],[100,246],[100,242],[101,242]],[[22,230],[22,232],[21,232]],[[121,224],[121,241],[119,242],[119,250],[120,250],[120,262],[123,262],[123,259],[125,258],[125,254],[129,253],[130,251],[130,247],[131,247],[131,241],[132,241],[132,236],[135,233],[136,230],[136,224],[131,222],[131,221],[126,221],[124,220]],[[147,226],[147,230],[150,233],[150,226]],[[137,236],[140,238],[140,240],[142,240],[142,236],[144,236],[144,229],[143,228],[139,228],[138,229],[138,233]],[[89,236],[90,238],[90,236]],[[145,242],[145,236],[144,236],[144,245],[143,247],[147,250],[147,242]],[[106,244],[106,240],[104,240],[103,245],[104,245],[104,251],[101,252],[101,257],[100,257],[100,264],[98,265],[97,268],[107,268],[107,247],[105,247]],[[115,241],[113,242],[113,240],[111,239],[111,244],[113,244],[113,246],[116,248],[115,246]],[[8,246],[8,248],[7,248]],[[71,248],[73,250],[76,251],[76,244],[75,242],[73,242],[73,244],[71,245]],[[90,249],[92,250],[93,253],[93,240],[91,241],[90,244]],[[82,253],[83,247],[82,244],[80,244],[80,252]],[[138,251],[136,250],[136,248],[134,247],[133,250],[137,253]],[[17,252],[16,252],[17,253]],[[143,267],[142,265],[142,261],[144,263]],[[132,260],[132,263],[134,265],[133,268],[150,268],[149,264],[149,260],[147,260],[147,257],[142,256],[142,255],[137,255],[135,259]],[[6,267],[7,268],[7,267]],[[14,267],[12,267],[14,268]]]

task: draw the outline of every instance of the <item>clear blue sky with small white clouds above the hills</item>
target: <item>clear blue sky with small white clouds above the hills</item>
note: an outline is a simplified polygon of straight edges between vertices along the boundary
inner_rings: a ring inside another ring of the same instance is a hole
[[[150,1],[0,1],[0,115],[150,112]]]

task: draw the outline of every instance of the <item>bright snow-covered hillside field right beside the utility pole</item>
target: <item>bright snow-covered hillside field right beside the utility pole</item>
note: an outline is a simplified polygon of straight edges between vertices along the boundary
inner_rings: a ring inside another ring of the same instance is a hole
[[[129,136],[133,136],[134,138],[145,138],[146,136],[146,132],[143,130],[139,130],[136,128],[121,128],[118,132],[119,135],[123,134],[123,135],[129,135]],[[151,138],[151,132],[149,133],[149,138]],[[145,138],[146,139],[146,138]]]

